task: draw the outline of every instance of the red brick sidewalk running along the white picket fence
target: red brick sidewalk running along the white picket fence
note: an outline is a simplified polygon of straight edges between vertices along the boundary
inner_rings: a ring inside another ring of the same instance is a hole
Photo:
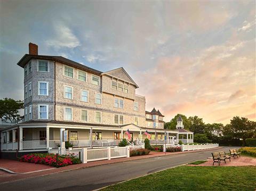
[[[43,164],[33,164],[33,163],[19,162],[19,161],[14,161],[14,160],[0,159],[0,167],[1,168],[5,168],[5,169],[9,168],[9,170],[11,170],[11,171],[21,173],[21,174],[12,174],[12,176],[6,176],[6,173],[4,173],[3,176],[1,176],[1,174],[0,174],[0,183],[7,182],[7,181],[14,181],[14,180],[18,180],[18,179],[25,179],[25,178],[30,178],[30,177],[45,176],[45,175],[50,175],[52,173],[65,172],[65,171],[69,171],[69,170],[77,170],[77,169],[95,167],[95,166],[104,165],[104,164],[113,164],[113,163],[118,163],[118,162],[147,159],[150,157],[160,157],[160,156],[165,156],[165,155],[176,155],[176,154],[210,151],[210,150],[214,150],[217,148],[219,149],[221,147],[216,147],[216,148],[207,149],[207,150],[173,152],[173,153],[166,152],[166,154],[164,152],[150,152],[149,155],[94,161],[94,162],[88,162],[88,163],[84,163],[84,164],[69,165],[67,167],[61,167],[61,168],[53,168],[53,167],[49,167],[49,166],[43,165]],[[39,171],[37,171],[37,170],[39,170]],[[35,171],[37,171],[37,172],[35,172]]]

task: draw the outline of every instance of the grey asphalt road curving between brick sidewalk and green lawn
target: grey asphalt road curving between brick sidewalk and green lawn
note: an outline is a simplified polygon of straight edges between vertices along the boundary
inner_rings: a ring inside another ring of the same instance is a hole
[[[169,169],[177,165],[196,160],[204,160],[211,156],[213,151],[227,151],[223,147],[210,151],[198,151],[177,155],[166,155],[149,159],[127,161],[123,163],[107,164],[98,167],[79,169],[34,177],[14,182],[0,184],[1,190],[93,190],[114,184],[127,179],[147,175],[159,170]]]

